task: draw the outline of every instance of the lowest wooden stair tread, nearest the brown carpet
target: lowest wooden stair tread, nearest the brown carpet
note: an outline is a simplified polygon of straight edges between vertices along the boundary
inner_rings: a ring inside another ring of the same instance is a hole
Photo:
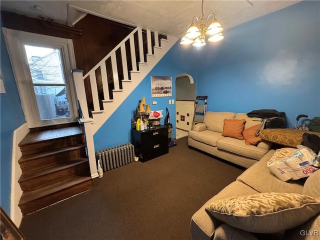
[[[92,180],[90,176],[76,176],[57,181],[54,184],[41,187],[31,191],[23,191],[22,196],[19,200],[19,206],[30,201],[34,201],[38,198],[53,194],[55,192],[61,191],[63,189],[72,187],[74,185],[80,184],[84,181]]]

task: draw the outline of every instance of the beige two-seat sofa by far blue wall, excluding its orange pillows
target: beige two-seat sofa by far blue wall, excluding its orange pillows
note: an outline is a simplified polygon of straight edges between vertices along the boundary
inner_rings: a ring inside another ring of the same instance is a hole
[[[195,124],[189,131],[188,145],[246,168],[271,148],[271,142],[247,145],[245,140],[222,136],[224,119],[245,119],[244,129],[260,123],[260,118],[245,113],[207,111],[203,123]]]

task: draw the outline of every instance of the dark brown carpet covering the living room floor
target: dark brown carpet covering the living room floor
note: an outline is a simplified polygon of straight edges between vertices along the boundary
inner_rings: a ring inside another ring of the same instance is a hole
[[[243,168],[176,140],[169,153],[104,172],[94,189],[23,217],[35,239],[190,239],[192,214]]]

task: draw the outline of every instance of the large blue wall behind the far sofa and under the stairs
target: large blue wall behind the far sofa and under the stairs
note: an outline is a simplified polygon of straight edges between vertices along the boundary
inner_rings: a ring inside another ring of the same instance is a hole
[[[175,104],[168,99],[175,99],[179,73],[193,77],[196,95],[208,95],[211,111],[277,109],[286,113],[288,127],[298,114],[319,116],[319,4],[303,1],[240,24],[203,48],[176,43],[95,133],[95,149],[131,141],[130,119],[141,96],[158,102],[152,110],[168,107],[175,129]],[[151,98],[150,75],[172,76],[172,97]]]

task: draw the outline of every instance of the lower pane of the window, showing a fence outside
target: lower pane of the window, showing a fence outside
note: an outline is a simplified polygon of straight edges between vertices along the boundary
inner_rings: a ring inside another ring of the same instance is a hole
[[[33,86],[41,120],[69,117],[64,86]]]

